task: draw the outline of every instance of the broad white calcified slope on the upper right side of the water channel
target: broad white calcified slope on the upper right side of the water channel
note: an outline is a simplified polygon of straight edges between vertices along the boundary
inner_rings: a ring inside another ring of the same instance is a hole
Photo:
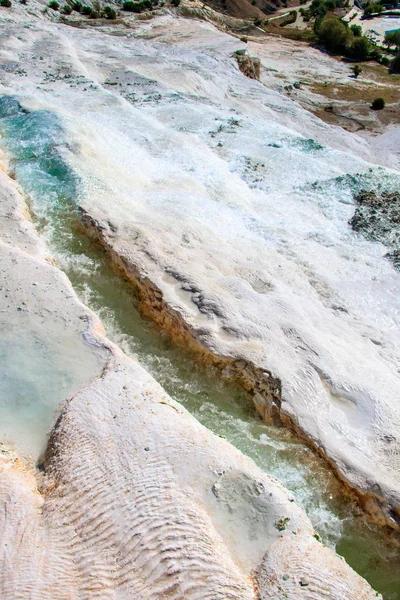
[[[376,166],[397,160],[245,78],[241,44],[209,24],[165,16],[116,36],[24,10],[1,30],[2,89],[62,120],[76,200],[147,312],[242,359],[250,387],[248,364],[278,377],[282,417],[395,524],[400,279],[348,221],[353,192],[398,184]]]

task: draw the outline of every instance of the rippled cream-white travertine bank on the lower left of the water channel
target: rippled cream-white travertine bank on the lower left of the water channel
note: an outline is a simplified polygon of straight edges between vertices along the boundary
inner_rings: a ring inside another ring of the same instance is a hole
[[[99,374],[99,365],[90,370],[95,355],[100,365],[108,357],[101,378],[67,402],[40,473],[0,448],[2,600],[375,598],[316,541],[291,494],[101,337],[68,280],[45,262],[11,180],[2,175],[0,184],[10,347],[21,330],[41,333],[75,385],[71,347],[81,383]],[[1,410],[5,428],[7,405]]]

